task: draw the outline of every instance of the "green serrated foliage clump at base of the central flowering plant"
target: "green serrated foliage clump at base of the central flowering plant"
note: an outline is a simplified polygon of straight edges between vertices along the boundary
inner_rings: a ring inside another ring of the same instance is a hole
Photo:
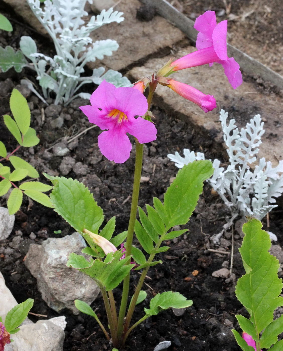
[[[144,316],[130,327],[135,306],[146,298],[146,292],[141,290],[141,287],[147,271],[151,266],[162,263],[161,260],[154,261],[155,255],[170,249],[169,246],[161,246],[164,240],[177,238],[187,232],[187,229],[175,231],[172,228],[176,225],[186,224],[189,221],[202,192],[203,182],[212,173],[210,161],[195,161],[186,165],[178,172],[176,179],[164,194],[164,203],[154,197],[153,206],[146,205],[147,214],[139,207],[140,222],[136,220],[134,232],[140,242],[141,250],[132,246],[131,256],[126,257],[123,256],[123,250],[121,249],[105,254],[87,233],[99,233],[99,236],[110,241],[115,247],[118,247],[127,236],[127,231],[125,231],[112,237],[115,230],[115,217],[112,217],[99,231],[104,220],[103,210],[97,205],[88,188],[72,178],[45,175],[54,185],[50,194],[54,211],[58,212],[76,231],[81,233],[89,245],[82,250],[82,253],[88,254],[90,260],[87,260],[84,256],[71,253],[67,266],[84,272],[94,279],[100,287],[114,347],[123,346],[129,333],[150,316],[170,307],[185,308],[191,306],[192,301],[187,300],[178,292],[158,293],[151,299],[149,308],[144,309]],[[131,262],[131,258],[138,266]],[[130,300],[124,322],[123,313],[121,314],[121,310],[125,307],[122,307],[124,304],[123,297],[118,319],[112,290],[128,276],[132,269],[142,270],[142,273]],[[81,312],[93,316],[104,331],[106,338],[110,339],[108,332],[90,306],[80,300],[76,300],[75,305]],[[122,324],[124,333],[119,333],[119,320],[124,323],[124,325]]]

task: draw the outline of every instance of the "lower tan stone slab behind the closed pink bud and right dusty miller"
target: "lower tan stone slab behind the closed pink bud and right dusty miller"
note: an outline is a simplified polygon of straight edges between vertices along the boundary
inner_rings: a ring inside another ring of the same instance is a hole
[[[176,58],[182,57],[196,48],[189,46],[181,49]],[[150,77],[157,72],[170,57],[151,59],[142,67],[134,67],[130,78],[138,80]],[[217,108],[211,112],[203,112],[197,105],[182,98],[171,89],[158,86],[153,103],[162,107],[168,114],[191,122],[194,132],[202,133],[204,138],[211,138],[215,143],[222,143],[222,128],[219,122],[219,111],[223,108],[229,112],[229,118],[235,118],[239,127],[245,126],[255,114],[261,114],[265,133],[259,157],[265,157],[274,164],[283,158],[283,98],[275,93],[259,92],[254,83],[243,82],[233,89],[224,75],[221,65],[214,64],[185,69],[171,76],[176,80],[189,84],[205,94],[214,95]],[[177,145],[176,145],[177,146]]]

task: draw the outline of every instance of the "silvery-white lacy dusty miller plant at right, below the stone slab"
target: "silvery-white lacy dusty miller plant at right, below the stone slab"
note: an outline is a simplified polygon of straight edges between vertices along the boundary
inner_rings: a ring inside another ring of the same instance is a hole
[[[266,162],[265,158],[261,158],[252,171],[249,165],[256,162],[264,133],[261,116],[257,114],[241,131],[235,125],[235,119],[227,123],[227,118],[228,112],[221,110],[219,119],[230,164],[225,170],[220,167],[220,161],[215,159],[215,171],[208,181],[230,209],[231,223],[238,215],[245,218],[255,214],[261,220],[272,208],[277,207],[275,198],[283,192],[283,160],[272,168],[270,161]],[[195,154],[188,149],[184,149],[184,156],[180,156],[178,152],[168,155],[178,168],[192,161],[205,159],[203,153]]]

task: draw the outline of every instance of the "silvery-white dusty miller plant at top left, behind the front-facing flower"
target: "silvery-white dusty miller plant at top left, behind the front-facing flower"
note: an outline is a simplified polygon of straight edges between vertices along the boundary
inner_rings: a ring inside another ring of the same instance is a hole
[[[100,84],[104,79],[115,86],[131,86],[131,82],[121,73],[111,69],[105,73],[103,67],[94,69],[91,77],[80,77],[87,62],[102,60],[105,55],[111,56],[118,49],[117,41],[106,39],[93,42],[89,34],[105,24],[123,21],[122,12],[113,11],[113,8],[103,10],[85,24],[83,16],[88,15],[84,11],[87,0],[45,0],[44,7],[40,6],[39,0],[27,2],[51,36],[57,53],[53,58],[38,53],[31,37],[21,37],[21,52],[32,61],[45,98],[51,91],[56,93],[55,104],[66,104],[77,96],[88,98],[90,94],[78,94],[78,90],[86,83]],[[88,2],[92,3],[92,0]],[[1,68],[1,56],[13,54],[13,49],[6,48],[6,51],[0,53]],[[18,66],[15,69],[21,70],[20,65],[27,66],[28,63],[24,57],[20,57],[19,52],[16,54],[18,57],[14,61]],[[22,83],[31,87],[28,81]]]

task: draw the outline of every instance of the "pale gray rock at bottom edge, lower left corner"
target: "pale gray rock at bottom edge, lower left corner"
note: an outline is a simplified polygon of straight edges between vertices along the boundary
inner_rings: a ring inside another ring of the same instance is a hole
[[[62,328],[49,320],[39,320],[35,324],[27,324],[13,335],[9,344],[11,351],[63,351],[65,333]]]

